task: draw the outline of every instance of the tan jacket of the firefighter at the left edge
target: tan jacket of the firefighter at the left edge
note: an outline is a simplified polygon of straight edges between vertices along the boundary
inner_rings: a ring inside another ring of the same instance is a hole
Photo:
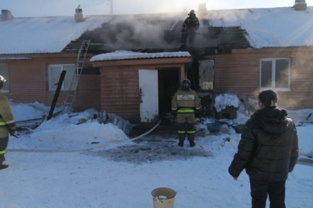
[[[15,131],[15,121],[11,113],[8,98],[0,93],[0,138],[8,137],[8,132]]]

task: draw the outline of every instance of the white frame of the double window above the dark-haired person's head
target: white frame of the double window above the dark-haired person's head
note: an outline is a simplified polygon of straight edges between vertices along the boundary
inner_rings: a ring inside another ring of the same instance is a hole
[[[276,80],[276,60],[281,60],[281,59],[288,59],[288,88],[276,88],[275,87],[275,80]],[[275,91],[291,91],[290,89],[290,58],[264,58],[260,59],[260,79],[259,79],[259,88],[260,91],[266,90],[266,89],[272,89]],[[262,61],[272,61],[272,87],[261,87],[261,79],[262,79]]]

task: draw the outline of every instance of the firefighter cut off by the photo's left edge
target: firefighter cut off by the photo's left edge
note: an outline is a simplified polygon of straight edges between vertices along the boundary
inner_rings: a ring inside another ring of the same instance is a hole
[[[0,92],[3,87],[3,82],[6,80],[0,75]],[[0,169],[8,167],[3,164],[5,161],[4,153],[9,142],[9,133],[11,136],[15,133],[15,121],[11,113],[8,98],[0,93]]]

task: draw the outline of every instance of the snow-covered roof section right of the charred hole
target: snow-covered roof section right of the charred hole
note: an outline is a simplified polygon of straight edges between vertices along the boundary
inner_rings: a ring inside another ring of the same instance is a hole
[[[210,27],[239,26],[254,48],[313,45],[313,7],[208,11]],[[202,24],[202,27],[207,27]]]

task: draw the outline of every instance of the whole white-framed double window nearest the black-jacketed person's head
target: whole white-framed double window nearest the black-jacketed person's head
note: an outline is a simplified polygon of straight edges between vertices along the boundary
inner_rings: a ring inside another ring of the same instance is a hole
[[[290,58],[260,60],[260,90],[290,91]]]

